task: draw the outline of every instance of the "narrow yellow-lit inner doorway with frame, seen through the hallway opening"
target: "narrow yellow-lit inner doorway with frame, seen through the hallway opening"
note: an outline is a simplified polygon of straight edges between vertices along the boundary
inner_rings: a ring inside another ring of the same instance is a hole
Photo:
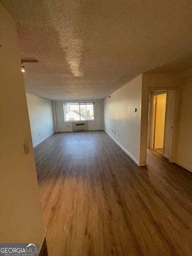
[[[166,115],[166,93],[154,95],[153,108],[153,149],[160,154],[164,153],[164,133],[165,133],[165,115]]]

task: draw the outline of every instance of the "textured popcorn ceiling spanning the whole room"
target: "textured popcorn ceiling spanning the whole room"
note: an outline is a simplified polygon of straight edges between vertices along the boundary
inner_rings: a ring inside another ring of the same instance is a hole
[[[191,0],[1,2],[17,22],[22,58],[38,60],[25,64],[26,91],[51,100],[105,98],[192,55]]]

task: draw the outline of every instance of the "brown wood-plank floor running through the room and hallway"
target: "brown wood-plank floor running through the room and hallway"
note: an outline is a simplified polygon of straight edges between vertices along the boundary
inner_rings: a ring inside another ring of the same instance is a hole
[[[192,255],[192,175],[148,151],[138,167],[104,132],[35,147],[49,256]]]

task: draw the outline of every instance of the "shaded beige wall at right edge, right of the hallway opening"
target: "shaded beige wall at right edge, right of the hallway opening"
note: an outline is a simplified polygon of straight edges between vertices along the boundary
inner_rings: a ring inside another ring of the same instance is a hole
[[[192,76],[180,79],[181,101],[176,162],[192,171]]]

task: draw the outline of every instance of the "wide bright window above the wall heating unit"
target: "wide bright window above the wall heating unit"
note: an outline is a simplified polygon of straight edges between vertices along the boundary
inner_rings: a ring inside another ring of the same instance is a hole
[[[94,120],[94,103],[64,103],[65,121]]]

